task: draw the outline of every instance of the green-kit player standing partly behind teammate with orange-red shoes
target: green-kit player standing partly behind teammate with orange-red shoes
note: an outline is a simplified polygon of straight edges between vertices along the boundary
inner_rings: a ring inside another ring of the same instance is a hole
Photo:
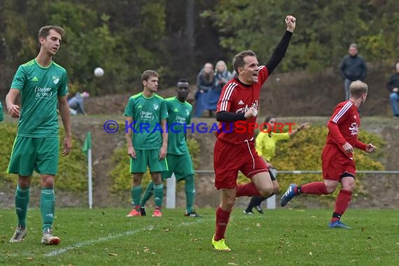
[[[168,126],[168,144],[167,144],[167,164],[169,171],[162,172],[162,180],[169,179],[174,173],[176,181],[186,181],[186,214],[189,217],[201,217],[193,209],[195,198],[195,182],[193,162],[191,161],[190,153],[188,152],[186,142],[186,132],[184,125],[191,123],[191,111],[193,106],[186,102],[188,92],[188,81],[185,79],[179,80],[177,83],[176,97],[166,99]],[[148,199],[153,195],[153,182],[149,183],[146,192],[141,199],[141,215],[146,215],[144,206]]]

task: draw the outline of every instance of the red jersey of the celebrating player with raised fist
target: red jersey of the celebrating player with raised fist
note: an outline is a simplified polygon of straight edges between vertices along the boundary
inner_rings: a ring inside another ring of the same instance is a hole
[[[245,85],[238,78],[230,80],[222,89],[217,112],[245,113],[251,107],[258,110],[260,88],[268,77],[269,71],[267,71],[267,67],[259,66],[258,83]],[[216,132],[216,137],[232,144],[253,140],[254,130],[249,125],[254,125],[254,123],[256,123],[255,117],[232,123],[221,122],[219,123],[219,130]]]

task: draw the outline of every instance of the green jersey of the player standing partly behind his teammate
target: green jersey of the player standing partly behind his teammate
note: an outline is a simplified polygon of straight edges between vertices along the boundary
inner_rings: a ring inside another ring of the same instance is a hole
[[[176,97],[166,99],[168,124],[167,153],[181,155],[188,153],[184,125],[191,123],[193,106],[188,102],[180,102]]]

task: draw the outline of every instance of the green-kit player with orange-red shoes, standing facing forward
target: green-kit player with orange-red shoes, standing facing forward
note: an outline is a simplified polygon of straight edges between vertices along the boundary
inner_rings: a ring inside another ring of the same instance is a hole
[[[133,209],[127,217],[140,216],[141,180],[150,169],[155,194],[153,217],[161,217],[164,188],[161,172],[167,171],[167,125],[165,100],[155,92],[158,90],[158,73],[146,70],[141,74],[144,90],[130,97],[125,109],[127,123],[125,137],[127,153],[130,155],[132,174]]]

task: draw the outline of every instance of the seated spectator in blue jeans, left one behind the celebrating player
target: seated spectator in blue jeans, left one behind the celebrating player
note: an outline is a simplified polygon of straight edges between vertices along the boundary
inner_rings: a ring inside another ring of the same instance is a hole
[[[216,110],[218,103],[218,94],[214,93],[215,89],[215,74],[214,66],[211,63],[205,63],[204,68],[201,69],[197,76],[197,92],[195,92],[195,113],[194,117],[202,116],[204,110],[209,110],[209,117],[212,116],[212,111]],[[219,93],[220,94],[220,93]]]

